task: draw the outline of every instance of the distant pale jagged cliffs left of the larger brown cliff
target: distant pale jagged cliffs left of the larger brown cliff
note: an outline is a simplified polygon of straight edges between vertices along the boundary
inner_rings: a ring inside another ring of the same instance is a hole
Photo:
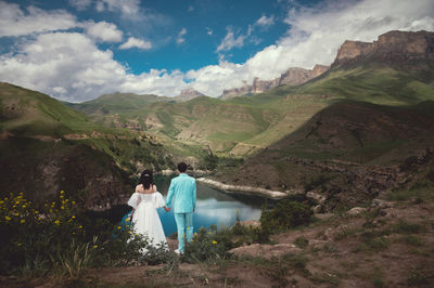
[[[225,90],[224,93],[221,94],[220,99],[221,100],[228,100],[237,96],[242,96],[242,95],[247,95],[247,94],[258,94],[258,93],[264,93],[267,90],[270,90],[272,88],[288,84],[288,86],[297,86],[302,84],[304,82],[309,81],[310,79],[314,79],[324,71],[329,69],[329,66],[324,65],[315,65],[312,69],[304,69],[304,68],[289,68],[284,74],[282,74],[280,77],[273,79],[273,80],[259,80],[258,78],[255,78],[253,80],[252,84],[247,84],[247,82],[244,82],[244,84],[240,88],[234,88],[234,89],[229,89]]]

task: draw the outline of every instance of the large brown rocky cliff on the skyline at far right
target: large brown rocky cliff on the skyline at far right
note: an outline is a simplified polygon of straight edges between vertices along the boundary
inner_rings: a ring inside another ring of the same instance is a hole
[[[390,31],[378,41],[345,41],[332,67],[360,61],[403,62],[434,60],[434,32]]]

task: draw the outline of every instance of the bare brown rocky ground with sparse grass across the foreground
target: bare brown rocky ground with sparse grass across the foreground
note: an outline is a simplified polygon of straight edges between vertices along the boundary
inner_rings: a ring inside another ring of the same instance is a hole
[[[271,244],[235,248],[230,260],[88,270],[79,279],[3,277],[0,286],[433,287],[433,210],[434,200],[376,199],[369,208],[317,214]]]

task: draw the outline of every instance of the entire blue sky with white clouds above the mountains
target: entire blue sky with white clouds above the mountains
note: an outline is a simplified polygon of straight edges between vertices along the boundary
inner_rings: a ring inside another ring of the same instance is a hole
[[[330,65],[345,40],[434,31],[433,0],[0,0],[0,81],[74,103],[208,96]]]

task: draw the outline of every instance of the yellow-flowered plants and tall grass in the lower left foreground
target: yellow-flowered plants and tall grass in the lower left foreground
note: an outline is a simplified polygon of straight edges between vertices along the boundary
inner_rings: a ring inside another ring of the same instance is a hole
[[[25,196],[0,199],[0,275],[35,277],[56,274],[76,278],[87,267],[168,261],[163,247],[104,219],[80,213],[64,192],[56,201],[36,207]]]

